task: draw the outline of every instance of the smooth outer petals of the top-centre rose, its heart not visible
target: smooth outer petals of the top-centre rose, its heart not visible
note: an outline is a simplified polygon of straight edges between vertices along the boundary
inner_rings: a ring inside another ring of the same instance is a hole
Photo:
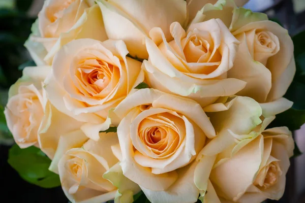
[[[184,23],[186,2],[183,0],[99,0],[109,39],[124,40],[130,54],[147,59],[145,36],[154,27],[165,30],[170,38],[168,27],[172,22]]]

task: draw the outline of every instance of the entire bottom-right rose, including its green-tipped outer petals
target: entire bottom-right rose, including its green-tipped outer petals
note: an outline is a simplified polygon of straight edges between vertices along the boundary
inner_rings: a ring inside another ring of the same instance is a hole
[[[266,109],[250,97],[237,96],[225,104],[228,110],[214,107],[215,112],[207,113],[218,135],[200,152],[198,165],[205,165],[205,171],[197,170],[194,180],[201,198],[211,202],[220,202],[218,196],[222,202],[279,199],[294,143],[287,127],[266,127],[275,119],[272,113],[287,110],[292,103],[276,101]],[[211,191],[207,197],[206,191]]]

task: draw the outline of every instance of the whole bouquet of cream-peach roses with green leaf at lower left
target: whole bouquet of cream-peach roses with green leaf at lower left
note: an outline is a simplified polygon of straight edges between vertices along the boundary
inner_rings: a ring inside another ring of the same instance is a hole
[[[281,198],[294,46],[243,3],[46,0],[37,66],[9,91],[9,163],[71,202]]]

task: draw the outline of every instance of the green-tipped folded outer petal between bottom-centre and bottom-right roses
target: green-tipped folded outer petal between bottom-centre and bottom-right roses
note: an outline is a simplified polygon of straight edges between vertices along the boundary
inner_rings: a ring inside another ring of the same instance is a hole
[[[262,109],[254,99],[237,96],[232,102],[226,111],[208,113],[218,134],[204,147],[204,155],[215,155],[234,145],[234,134],[241,135],[238,139],[248,138],[248,134],[262,122]]]

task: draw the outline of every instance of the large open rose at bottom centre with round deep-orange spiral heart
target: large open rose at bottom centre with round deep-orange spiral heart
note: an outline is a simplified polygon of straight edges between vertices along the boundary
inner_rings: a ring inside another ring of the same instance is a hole
[[[216,136],[198,103],[146,88],[127,96],[110,117],[113,123],[122,119],[117,135],[123,174],[151,202],[197,201],[190,163],[206,137]]]

